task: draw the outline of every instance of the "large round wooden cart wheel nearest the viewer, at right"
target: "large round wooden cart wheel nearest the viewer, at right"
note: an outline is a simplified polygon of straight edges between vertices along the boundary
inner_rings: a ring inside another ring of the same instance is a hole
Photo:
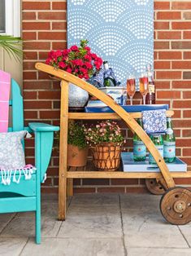
[[[191,191],[183,187],[170,188],[160,201],[163,217],[171,224],[184,225],[191,221]]]

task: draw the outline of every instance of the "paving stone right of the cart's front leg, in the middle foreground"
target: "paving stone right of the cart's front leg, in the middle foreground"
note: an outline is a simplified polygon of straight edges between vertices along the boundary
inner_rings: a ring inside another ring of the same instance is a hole
[[[121,237],[119,208],[98,205],[72,205],[62,223],[59,237]]]

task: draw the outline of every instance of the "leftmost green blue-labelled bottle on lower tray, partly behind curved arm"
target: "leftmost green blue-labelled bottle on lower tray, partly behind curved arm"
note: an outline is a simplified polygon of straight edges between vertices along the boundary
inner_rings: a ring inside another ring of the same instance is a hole
[[[142,127],[142,119],[138,118],[137,123]],[[133,159],[134,161],[145,161],[146,147],[139,136],[135,133],[133,136]]]

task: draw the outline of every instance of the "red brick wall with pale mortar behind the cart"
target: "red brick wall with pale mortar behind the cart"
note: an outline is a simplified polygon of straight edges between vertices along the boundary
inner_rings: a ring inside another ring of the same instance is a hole
[[[24,117],[59,124],[59,83],[34,64],[51,49],[67,46],[66,1],[23,0]],[[175,110],[177,156],[191,166],[191,2],[154,0],[154,69],[158,103]],[[129,134],[129,132],[128,132]],[[130,140],[129,140],[130,141]],[[131,145],[131,143],[129,143]],[[26,144],[33,163],[33,140]],[[54,150],[44,192],[58,192],[58,152]],[[190,186],[191,179],[176,179]],[[144,180],[76,179],[75,192],[144,192]]]

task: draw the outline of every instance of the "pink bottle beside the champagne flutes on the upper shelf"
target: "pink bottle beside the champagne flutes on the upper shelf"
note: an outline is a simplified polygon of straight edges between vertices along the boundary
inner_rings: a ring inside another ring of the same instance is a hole
[[[152,66],[151,64],[148,64],[146,66],[146,73],[149,79],[149,92],[146,95],[146,104],[155,104],[155,86],[154,86],[154,78],[153,78],[153,72],[151,70]]]

